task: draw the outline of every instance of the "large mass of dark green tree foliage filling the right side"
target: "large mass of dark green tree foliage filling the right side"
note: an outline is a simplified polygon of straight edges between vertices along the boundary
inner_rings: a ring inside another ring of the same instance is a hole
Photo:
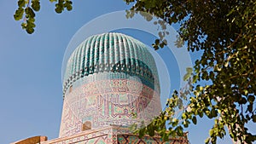
[[[256,135],[246,124],[256,123],[256,2],[253,0],[125,0],[133,3],[127,17],[137,11],[147,12],[165,20],[168,25],[179,23],[180,40],[188,43],[188,50],[201,51],[195,66],[187,69],[184,80],[187,89],[174,91],[166,110],[147,127],[137,130],[140,135],[152,130],[166,135],[183,135],[181,131],[197,118],[213,118],[206,143],[216,143],[217,137],[229,129],[233,141],[252,143]],[[129,16],[131,15],[131,16]],[[148,20],[148,19],[147,19]],[[150,20],[150,19],[149,19]],[[160,24],[162,27],[162,24]],[[153,44],[163,47],[165,28]],[[180,45],[180,43],[177,43]],[[184,96],[186,95],[186,96]],[[180,119],[174,118],[175,107],[182,107],[184,98],[189,104]],[[166,130],[162,124],[171,127]],[[143,131],[143,132],[142,132]]]

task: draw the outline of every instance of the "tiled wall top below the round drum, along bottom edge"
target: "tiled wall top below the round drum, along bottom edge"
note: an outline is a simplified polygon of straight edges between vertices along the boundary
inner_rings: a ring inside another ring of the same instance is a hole
[[[41,144],[189,144],[187,136],[169,138],[162,141],[159,135],[154,137],[145,135],[138,138],[125,127],[108,126],[98,130],[88,130],[79,134],[42,141]]]

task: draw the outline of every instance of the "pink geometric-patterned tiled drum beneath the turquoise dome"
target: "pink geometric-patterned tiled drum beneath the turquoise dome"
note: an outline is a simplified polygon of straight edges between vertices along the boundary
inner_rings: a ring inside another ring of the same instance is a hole
[[[95,130],[110,124],[148,122],[161,110],[160,94],[136,79],[89,81],[66,95],[60,137],[79,133],[88,121]]]

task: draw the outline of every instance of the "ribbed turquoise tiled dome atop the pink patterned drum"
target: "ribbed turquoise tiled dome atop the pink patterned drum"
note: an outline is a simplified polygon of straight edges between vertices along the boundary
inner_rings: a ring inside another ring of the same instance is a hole
[[[152,88],[158,83],[154,57],[137,39],[121,33],[88,37],[67,61],[63,95],[80,78],[98,72],[125,72],[143,79]],[[155,81],[156,80],[156,81]]]

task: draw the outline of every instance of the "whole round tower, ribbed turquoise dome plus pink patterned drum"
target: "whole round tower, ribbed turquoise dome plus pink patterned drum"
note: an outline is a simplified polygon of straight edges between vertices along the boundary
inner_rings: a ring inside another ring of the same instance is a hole
[[[110,124],[147,123],[160,106],[159,76],[147,47],[121,33],[87,38],[67,61],[60,137]],[[137,118],[134,117],[137,114]]]

